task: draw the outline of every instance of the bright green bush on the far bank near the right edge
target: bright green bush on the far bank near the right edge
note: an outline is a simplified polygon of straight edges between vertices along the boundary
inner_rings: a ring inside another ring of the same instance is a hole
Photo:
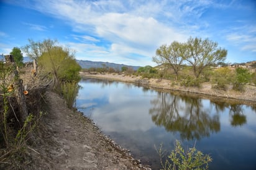
[[[244,85],[250,82],[252,74],[246,68],[237,68],[235,69],[235,73],[233,89],[235,91],[244,91]]]

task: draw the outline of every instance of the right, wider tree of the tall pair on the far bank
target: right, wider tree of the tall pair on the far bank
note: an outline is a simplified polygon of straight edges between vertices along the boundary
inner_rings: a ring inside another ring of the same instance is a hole
[[[224,61],[227,50],[217,48],[217,43],[206,38],[189,38],[186,42],[185,60],[193,66],[194,76],[198,78],[205,68]]]

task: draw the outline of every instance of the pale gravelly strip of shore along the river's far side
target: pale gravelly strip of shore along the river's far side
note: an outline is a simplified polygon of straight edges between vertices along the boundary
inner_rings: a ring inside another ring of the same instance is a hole
[[[168,79],[142,79],[141,76],[126,76],[124,74],[89,74],[80,72],[82,78],[107,79],[111,81],[121,81],[126,83],[135,83],[140,86],[150,87],[161,91],[172,91],[186,93],[188,95],[197,95],[204,99],[210,99],[217,102],[232,102],[235,104],[256,105],[256,86],[246,85],[244,92],[232,90],[229,86],[227,91],[213,89],[211,83],[203,83],[201,87],[184,87],[175,84],[175,81]]]

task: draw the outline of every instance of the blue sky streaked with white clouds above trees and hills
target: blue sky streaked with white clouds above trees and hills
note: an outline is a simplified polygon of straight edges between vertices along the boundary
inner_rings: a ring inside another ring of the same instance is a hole
[[[4,54],[51,38],[78,60],[154,66],[160,45],[191,36],[217,42],[226,62],[256,60],[254,0],[0,0],[0,21]]]

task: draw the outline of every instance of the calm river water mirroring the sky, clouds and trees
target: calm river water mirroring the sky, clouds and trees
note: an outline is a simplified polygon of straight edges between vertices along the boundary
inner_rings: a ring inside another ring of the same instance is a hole
[[[256,169],[256,106],[98,79],[81,80],[80,86],[78,110],[153,169],[160,169],[155,146],[171,150],[175,140],[210,154],[210,169]]]

